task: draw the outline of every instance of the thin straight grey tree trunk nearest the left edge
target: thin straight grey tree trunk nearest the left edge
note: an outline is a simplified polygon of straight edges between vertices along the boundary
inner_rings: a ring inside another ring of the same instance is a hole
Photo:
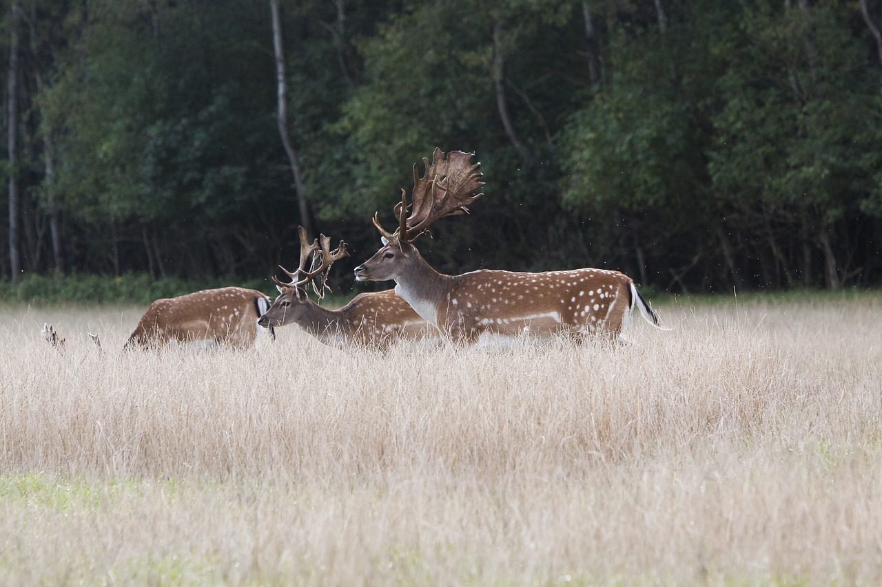
[[[9,153],[9,264],[12,284],[19,283],[21,250],[19,249],[19,3],[11,4],[9,78],[8,78],[8,153]]]

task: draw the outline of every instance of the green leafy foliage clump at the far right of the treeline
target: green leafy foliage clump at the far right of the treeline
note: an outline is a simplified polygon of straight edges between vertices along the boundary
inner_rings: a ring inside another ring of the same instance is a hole
[[[708,165],[720,197],[789,208],[822,227],[873,197],[878,74],[856,67],[865,46],[843,16],[829,2],[811,14],[759,4],[723,29],[714,49],[731,64],[717,82]]]

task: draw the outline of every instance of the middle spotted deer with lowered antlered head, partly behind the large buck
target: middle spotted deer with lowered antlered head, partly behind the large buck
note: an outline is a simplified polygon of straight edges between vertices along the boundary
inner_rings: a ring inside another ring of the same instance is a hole
[[[309,332],[326,345],[347,346],[358,344],[386,348],[401,338],[422,338],[435,336],[436,329],[426,323],[410,308],[407,301],[402,300],[393,290],[385,292],[358,294],[346,306],[340,309],[322,308],[307,295],[306,287],[313,286],[319,299],[325,290],[324,276],[334,261],[349,256],[346,244],[334,251],[330,250],[330,239],[324,234],[319,241],[312,244],[306,239],[306,230],[298,228],[300,234],[300,266],[291,272],[280,267],[288,274],[290,283],[273,277],[279,289],[279,297],[273,306],[260,316],[258,324],[265,327],[285,326],[296,323],[304,331]],[[318,269],[305,271],[310,258],[319,259]],[[297,281],[298,275],[303,279]],[[316,285],[316,279],[321,285]]]

